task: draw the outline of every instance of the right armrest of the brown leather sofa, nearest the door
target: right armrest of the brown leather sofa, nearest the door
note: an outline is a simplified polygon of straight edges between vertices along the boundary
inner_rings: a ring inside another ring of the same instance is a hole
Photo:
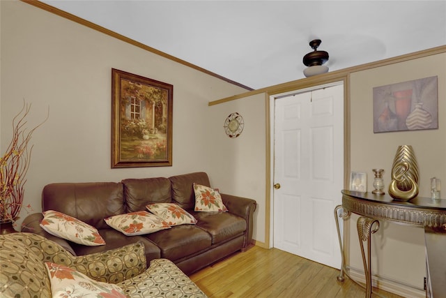
[[[236,195],[227,195],[220,193],[223,204],[229,210],[229,213],[236,214],[246,221],[246,233],[243,240],[243,247],[247,248],[252,244],[252,233],[254,230],[253,214],[256,210],[257,202],[252,199],[238,197]]]

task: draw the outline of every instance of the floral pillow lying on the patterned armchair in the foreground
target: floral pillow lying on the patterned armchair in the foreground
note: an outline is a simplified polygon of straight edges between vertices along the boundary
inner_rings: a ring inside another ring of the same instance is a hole
[[[84,274],[52,262],[45,262],[53,297],[125,298],[123,290],[112,283],[102,283]]]

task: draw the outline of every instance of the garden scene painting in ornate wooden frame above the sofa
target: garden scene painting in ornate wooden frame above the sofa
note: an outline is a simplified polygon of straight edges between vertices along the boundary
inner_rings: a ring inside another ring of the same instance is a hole
[[[171,84],[112,68],[112,168],[172,165]]]

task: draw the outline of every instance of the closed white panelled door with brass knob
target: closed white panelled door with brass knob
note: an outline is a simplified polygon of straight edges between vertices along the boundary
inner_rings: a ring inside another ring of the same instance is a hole
[[[274,246],[339,268],[333,210],[344,181],[344,87],[275,100]]]

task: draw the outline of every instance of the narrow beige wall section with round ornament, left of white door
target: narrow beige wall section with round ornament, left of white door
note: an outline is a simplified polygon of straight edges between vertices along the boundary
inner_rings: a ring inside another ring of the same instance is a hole
[[[228,137],[223,124],[233,112],[242,115],[245,127],[240,136]],[[222,193],[237,193],[257,202],[254,213],[254,239],[264,244],[266,234],[266,98],[265,94],[247,96],[210,106],[210,171],[219,181]],[[228,190],[228,191],[226,191]]]

